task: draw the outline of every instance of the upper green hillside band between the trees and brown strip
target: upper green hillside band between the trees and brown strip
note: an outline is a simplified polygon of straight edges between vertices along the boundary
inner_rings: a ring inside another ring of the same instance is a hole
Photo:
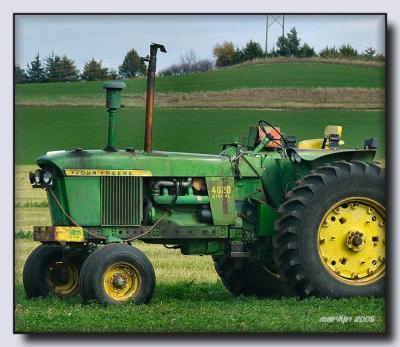
[[[125,93],[144,93],[146,80],[126,81]],[[345,64],[264,64],[158,78],[157,92],[223,91],[238,88],[384,88],[384,68]],[[16,99],[103,97],[102,82],[20,84]]]

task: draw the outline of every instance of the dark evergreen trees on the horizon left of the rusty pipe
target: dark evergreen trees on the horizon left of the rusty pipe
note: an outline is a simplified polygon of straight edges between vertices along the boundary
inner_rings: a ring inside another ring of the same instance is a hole
[[[122,64],[115,69],[103,66],[101,60],[92,58],[87,61],[80,73],[74,60],[66,55],[51,53],[40,59],[39,53],[27,64],[26,69],[15,66],[16,83],[43,83],[43,82],[68,82],[68,81],[98,81],[105,79],[133,78],[146,72],[145,64],[140,60],[135,49],[131,49]]]

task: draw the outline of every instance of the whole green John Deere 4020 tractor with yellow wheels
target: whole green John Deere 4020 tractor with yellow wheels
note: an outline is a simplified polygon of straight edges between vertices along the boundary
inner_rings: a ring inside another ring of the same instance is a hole
[[[340,126],[297,143],[261,120],[219,155],[152,150],[157,51],[148,62],[144,150],[115,147],[124,83],[109,82],[104,149],[48,152],[30,173],[51,226],[26,261],[28,297],[78,292],[148,303],[155,287],[133,240],[211,255],[234,295],[379,296],[385,276],[385,174],[377,140],[344,149]]]

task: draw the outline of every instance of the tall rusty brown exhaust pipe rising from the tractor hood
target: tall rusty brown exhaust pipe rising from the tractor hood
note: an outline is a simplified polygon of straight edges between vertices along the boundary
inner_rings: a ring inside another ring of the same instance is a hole
[[[142,61],[149,63],[147,68],[146,127],[144,133],[144,150],[146,152],[151,152],[153,149],[154,84],[158,49],[163,53],[167,53],[163,45],[152,43],[150,45],[150,56],[142,58]]]

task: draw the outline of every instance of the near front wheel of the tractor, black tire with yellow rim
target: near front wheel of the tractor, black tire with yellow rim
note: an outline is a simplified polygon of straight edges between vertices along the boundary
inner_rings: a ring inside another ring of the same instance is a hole
[[[137,248],[124,244],[110,244],[90,254],[80,275],[83,299],[107,305],[147,304],[155,282],[150,260]]]

